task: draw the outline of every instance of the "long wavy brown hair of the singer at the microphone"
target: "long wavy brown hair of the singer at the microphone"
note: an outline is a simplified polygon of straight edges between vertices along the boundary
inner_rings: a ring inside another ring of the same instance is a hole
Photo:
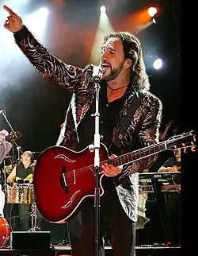
[[[150,89],[150,83],[143,60],[143,49],[139,39],[128,32],[115,32],[106,35],[104,41],[108,41],[111,37],[120,39],[124,48],[124,58],[133,61],[130,68],[132,87],[134,87],[135,91],[148,91]]]

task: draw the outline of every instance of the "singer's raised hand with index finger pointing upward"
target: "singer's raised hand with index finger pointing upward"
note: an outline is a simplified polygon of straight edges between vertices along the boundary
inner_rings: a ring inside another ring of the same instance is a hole
[[[17,32],[21,30],[23,26],[21,17],[14,13],[8,6],[3,6],[3,9],[10,14],[4,22],[4,27],[10,32]]]

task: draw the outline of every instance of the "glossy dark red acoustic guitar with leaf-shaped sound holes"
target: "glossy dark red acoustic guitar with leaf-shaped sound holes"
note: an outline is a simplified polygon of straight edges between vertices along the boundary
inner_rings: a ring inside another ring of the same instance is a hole
[[[189,132],[114,159],[109,159],[105,145],[101,144],[100,165],[104,162],[114,166],[127,165],[166,149],[193,145],[193,142],[194,135]],[[100,196],[104,194],[103,176],[100,175]],[[36,206],[44,219],[52,223],[67,222],[78,212],[82,200],[94,196],[94,153],[89,147],[74,152],[63,146],[51,146],[38,157],[33,182]]]

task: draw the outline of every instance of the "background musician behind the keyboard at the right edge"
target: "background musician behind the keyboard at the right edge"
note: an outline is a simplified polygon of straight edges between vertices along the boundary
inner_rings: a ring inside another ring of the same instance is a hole
[[[174,157],[170,157],[158,172],[178,172],[181,170],[181,149],[173,150]],[[173,178],[171,183],[162,184],[166,192],[167,210],[173,230],[174,245],[181,244],[181,180],[180,176]]]

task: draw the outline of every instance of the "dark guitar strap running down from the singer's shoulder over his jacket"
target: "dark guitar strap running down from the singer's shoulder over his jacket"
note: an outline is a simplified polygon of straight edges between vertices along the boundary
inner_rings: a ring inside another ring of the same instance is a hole
[[[142,93],[135,93],[134,99],[131,102],[131,105],[128,109],[128,114],[125,115],[124,121],[121,123],[120,128],[112,142],[112,144],[116,145],[116,148],[120,148],[120,143],[122,141],[122,138],[124,134],[126,133],[126,130],[128,129],[128,126],[131,122],[131,117],[135,114],[136,109],[139,107],[139,103],[142,99]]]

